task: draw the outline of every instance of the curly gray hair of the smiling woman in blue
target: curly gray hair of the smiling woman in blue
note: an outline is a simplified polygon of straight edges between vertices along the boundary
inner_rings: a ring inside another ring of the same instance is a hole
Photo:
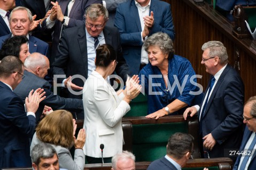
[[[159,46],[165,54],[174,54],[173,41],[168,34],[158,32],[151,35],[143,44],[145,51],[148,51],[150,46]]]

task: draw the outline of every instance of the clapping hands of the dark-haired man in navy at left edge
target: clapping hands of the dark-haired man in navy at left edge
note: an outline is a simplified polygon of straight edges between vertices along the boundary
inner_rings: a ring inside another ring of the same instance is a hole
[[[25,106],[28,112],[35,113],[38,109],[39,103],[46,98],[43,88],[37,88],[37,90],[30,91],[28,97],[25,99]]]

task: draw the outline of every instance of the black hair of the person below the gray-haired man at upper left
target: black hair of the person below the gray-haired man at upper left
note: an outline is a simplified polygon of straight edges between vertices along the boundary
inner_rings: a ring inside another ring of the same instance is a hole
[[[5,39],[0,50],[0,60],[2,60],[7,55],[19,57],[20,47],[25,43],[28,43],[28,38],[26,36],[13,36],[11,38]]]

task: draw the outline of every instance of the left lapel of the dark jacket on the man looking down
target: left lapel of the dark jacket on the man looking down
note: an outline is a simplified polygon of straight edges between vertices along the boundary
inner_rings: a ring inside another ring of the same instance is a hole
[[[77,41],[79,44],[79,48],[80,48],[80,56],[82,56],[82,62],[83,62],[83,70],[86,72],[86,78],[88,77],[88,54],[87,54],[87,42],[86,42],[86,27],[80,27],[77,30]],[[82,68],[81,68],[82,69]]]

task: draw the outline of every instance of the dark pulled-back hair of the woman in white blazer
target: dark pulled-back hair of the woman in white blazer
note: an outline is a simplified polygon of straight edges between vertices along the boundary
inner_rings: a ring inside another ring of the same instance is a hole
[[[107,67],[114,60],[117,60],[117,52],[111,45],[103,44],[96,49],[96,67]]]

